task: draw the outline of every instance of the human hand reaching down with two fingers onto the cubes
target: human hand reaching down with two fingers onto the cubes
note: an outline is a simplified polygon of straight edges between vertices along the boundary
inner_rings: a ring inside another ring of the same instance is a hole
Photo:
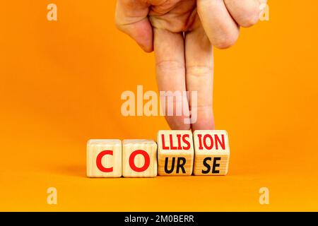
[[[118,0],[116,25],[146,52],[155,51],[160,91],[197,91],[182,103],[197,120],[166,116],[171,129],[214,129],[213,49],[235,44],[240,26],[257,23],[266,0]],[[174,103],[174,108],[176,103]]]

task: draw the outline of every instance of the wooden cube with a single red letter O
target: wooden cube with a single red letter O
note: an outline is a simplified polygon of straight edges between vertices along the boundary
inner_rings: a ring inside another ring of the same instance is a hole
[[[122,148],[124,177],[157,176],[157,143],[155,141],[124,140]]]

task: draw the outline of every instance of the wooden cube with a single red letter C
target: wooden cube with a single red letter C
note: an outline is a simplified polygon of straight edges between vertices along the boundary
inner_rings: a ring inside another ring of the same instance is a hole
[[[87,177],[122,177],[122,141],[88,141],[86,161]]]

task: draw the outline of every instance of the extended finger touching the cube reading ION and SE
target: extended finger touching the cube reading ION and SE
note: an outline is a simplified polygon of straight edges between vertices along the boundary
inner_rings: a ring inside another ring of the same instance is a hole
[[[192,130],[214,129],[213,49],[202,27],[186,34],[185,49],[189,97],[197,92],[197,100],[189,99]]]

